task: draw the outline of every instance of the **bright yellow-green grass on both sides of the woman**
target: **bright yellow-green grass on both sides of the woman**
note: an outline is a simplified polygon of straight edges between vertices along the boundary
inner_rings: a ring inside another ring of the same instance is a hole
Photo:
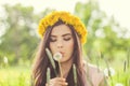
[[[105,66],[100,60],[99,66]],[[115,75],[108,78],[109,86],[130,86],[130,67],[123,70],[122,61],[108,63],[115,69]],[[106,68],[103,67],[103,68]],[[118,85],[117,85],[118,84]],[[30,67],[0,68],[0,86],[30,86]]]

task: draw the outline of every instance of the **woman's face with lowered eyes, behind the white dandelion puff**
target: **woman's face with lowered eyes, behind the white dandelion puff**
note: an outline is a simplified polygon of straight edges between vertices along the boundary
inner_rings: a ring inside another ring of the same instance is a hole
[[[58,52],[62,54],[61,62],[69,60],[74,51],[74,38],[69,27],[64,24],[55,26],[51,31],[49,46],[53,55]]]

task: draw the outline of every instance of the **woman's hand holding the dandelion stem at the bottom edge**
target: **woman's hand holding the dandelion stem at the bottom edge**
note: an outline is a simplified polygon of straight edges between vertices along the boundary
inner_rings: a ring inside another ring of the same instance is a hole
[[[49,85],[46,84],[46,86],[67,86],[67,85],[68,84],[65,82],[65,78],[63,77],[51,78]]]

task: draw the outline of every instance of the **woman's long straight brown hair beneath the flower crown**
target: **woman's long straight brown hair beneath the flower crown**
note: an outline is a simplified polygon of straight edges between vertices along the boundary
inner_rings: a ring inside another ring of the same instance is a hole
[[[65,24],[63,20],[58,20],[55,23],[52,27],[48,27],[43,39],[40,43],[39,51],[36,55],[36,62],[34,63],[34,70],[32,70],[32,78],[35,82],[35,86],[46,86],[47,83],[47,68],[49,67],[51,69],[51,78],[55,77],[54,70],[51,66],[51,62],[49,60],[48,55],[46,54],[46,47],[49,47],[50,43],[50,34],[53,29],[53,27]],[[81,56],[81,43],[79,40],[79,35],[77,32],[74,30],[74,27],[65,24],[68,26],[72,30],[73,38],[74,38],[74,52],[73,52],[73,63],[76,64],[77,68],[77,83],[78,86],[84,86],[86,85],[86,76],[83,75],[83,68],[82,68],[82,56]],[[56,63],[56,71],[58,72],[58,64]],[[68,86],[74,86],[74,76],[73,76],[73,68],[70,68],[68,75],[66,77],[66,81],[68,83]]]

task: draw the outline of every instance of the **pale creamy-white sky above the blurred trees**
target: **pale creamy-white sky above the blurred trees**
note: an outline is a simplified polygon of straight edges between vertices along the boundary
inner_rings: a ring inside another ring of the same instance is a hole
[[[64,10],[73,13],[76,2],[83,3],[87,1],[88,0],[0,0],[0,5],[4,3],[11,5],[22,3],[23,5],[32,5],[36,13],[43,11],[46,8]],[[98,2],[100,9],[104,11],[108,17],[114,16],[119,25],[128,28],[130,32],[130,0],[98,0]]]

